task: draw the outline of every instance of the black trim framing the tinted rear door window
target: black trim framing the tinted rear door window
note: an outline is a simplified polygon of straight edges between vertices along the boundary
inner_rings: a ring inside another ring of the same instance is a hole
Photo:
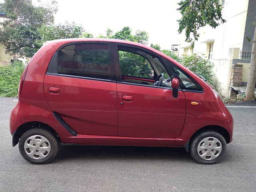
[[[109,62],[110,62],[110,79],[102,79],[102,78],[91,78],[91,77],[84,77],[84,76],[76,76],[76,75],[66,75],[66,74],[58,74],[58,63],[56,64],[56,57],[58,58],[58,52],[62,50],[66,46],[74,45],[74,44],[108,44],[108,52],[109,52]],[[71,77],[71,78],[79,78],[79,79],[88,79],[88,80],[97,80],[97,81],[104,81],[104,82],[116,82],[116,70],[114,64],[114,49],[112,42],[98,42],[98,41],[80,41],[80,42],[70,42],[60,46],[54,55],[52,56],[47,71],[47,75],[54,75],[54,76],[62,76],[62,77]]]

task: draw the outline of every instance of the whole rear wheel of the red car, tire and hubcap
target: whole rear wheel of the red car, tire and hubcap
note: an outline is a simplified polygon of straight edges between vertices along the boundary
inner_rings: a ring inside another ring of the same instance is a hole
[[[58,154],[60,144],[56,137],[42,128],[26,131],[20,138],[19,150],[22,157],[32,164],[46,164]]]

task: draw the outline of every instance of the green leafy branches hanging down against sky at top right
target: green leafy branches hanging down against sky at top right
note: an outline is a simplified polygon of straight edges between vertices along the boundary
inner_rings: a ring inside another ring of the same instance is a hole
[[[179,23],[178,32],[185,30],[186,41],[198,40],[198,29],[206,25],[216,28],[220,23],[226,22],[222,18],[222,5],[220,0],[181,0],[177,10],[182,18]],[[193,35],[193,38],[190,35]]]

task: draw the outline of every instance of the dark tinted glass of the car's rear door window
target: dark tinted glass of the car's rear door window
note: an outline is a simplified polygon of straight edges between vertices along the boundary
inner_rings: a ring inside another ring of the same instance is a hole
[[[74,44],[58,53],[58,74],[110,79],[108,44]]]

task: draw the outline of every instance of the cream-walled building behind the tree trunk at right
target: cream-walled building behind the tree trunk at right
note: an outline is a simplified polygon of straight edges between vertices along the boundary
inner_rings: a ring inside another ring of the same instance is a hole
[[[256,21],[256,0],[222,0],[224,24],[215,29],[206,26],[199,30],[200,38],[191,43],[180,36],[179,56],[197,53],[214,63],[214,85],[224,96],[230,89],[243,92],[248,81],[253,22]],[[240,88],[237,88],[240,87]]]

